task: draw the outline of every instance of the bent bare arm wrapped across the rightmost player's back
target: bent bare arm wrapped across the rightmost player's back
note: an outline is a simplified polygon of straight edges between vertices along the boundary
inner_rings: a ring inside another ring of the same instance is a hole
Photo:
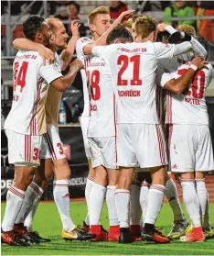
[[[191,61],[190,67],[177,79],[171,79],[164,84],[164,88],[175,95],[181,95],[186,89],[189,83],[191,83],[195,72],[201,69],[206,62],[200,58],[195,57]],[[164,74],[165,75],[165,74]]]

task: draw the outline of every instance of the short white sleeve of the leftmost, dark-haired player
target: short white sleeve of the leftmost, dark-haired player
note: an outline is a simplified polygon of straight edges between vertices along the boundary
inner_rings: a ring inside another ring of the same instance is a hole
[[[61,72],[57,70],[54,63],[51,65],[48,65],[48,63],[46,63],[45,66],[43,64],[40,65],[38,73],[46,80],[47,83],[51,83],[52,81],[62,76]]]

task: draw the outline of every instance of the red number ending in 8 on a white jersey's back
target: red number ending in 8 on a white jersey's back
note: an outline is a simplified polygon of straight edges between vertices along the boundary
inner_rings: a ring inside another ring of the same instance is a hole
[[[86,72],[88,83],[91,85],[91,98],[96,101],[101,98],[101,89],[100,89],[100,72],[94,70]]]

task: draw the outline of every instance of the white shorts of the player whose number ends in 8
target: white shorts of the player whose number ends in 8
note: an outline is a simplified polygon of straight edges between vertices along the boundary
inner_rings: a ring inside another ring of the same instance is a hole
[[[91,150],[92,168],[103,165],[108,169],[117,168],[115,137],[88,138]]]

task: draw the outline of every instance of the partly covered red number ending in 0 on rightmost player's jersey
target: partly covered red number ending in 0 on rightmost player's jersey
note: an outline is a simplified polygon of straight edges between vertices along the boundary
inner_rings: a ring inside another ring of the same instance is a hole
[[[178,70],[178,74],[182,75],[187,71],[187,69],[183,69],[183,70]],[[203,71],[198,71],[194,78],[193,78],[193,82],[192,82],[192,88],[189,88],[186,92],[185,95],[190,96],[192,95],[193,97],[197,98],[197,99],[201,99],[203,98],[204,94],[205,94],[205,90],[204,90],[204,85],[205,85],[205,72]]]

